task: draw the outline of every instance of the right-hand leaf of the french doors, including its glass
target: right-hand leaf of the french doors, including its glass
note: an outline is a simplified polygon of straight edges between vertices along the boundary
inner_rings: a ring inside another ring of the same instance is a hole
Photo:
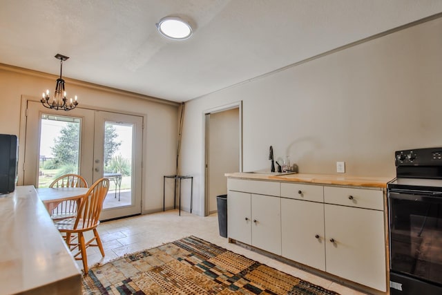
[[[142,120],[136,115],[95,112],[93,179],[110,180],[100,220],[141,213]]]

